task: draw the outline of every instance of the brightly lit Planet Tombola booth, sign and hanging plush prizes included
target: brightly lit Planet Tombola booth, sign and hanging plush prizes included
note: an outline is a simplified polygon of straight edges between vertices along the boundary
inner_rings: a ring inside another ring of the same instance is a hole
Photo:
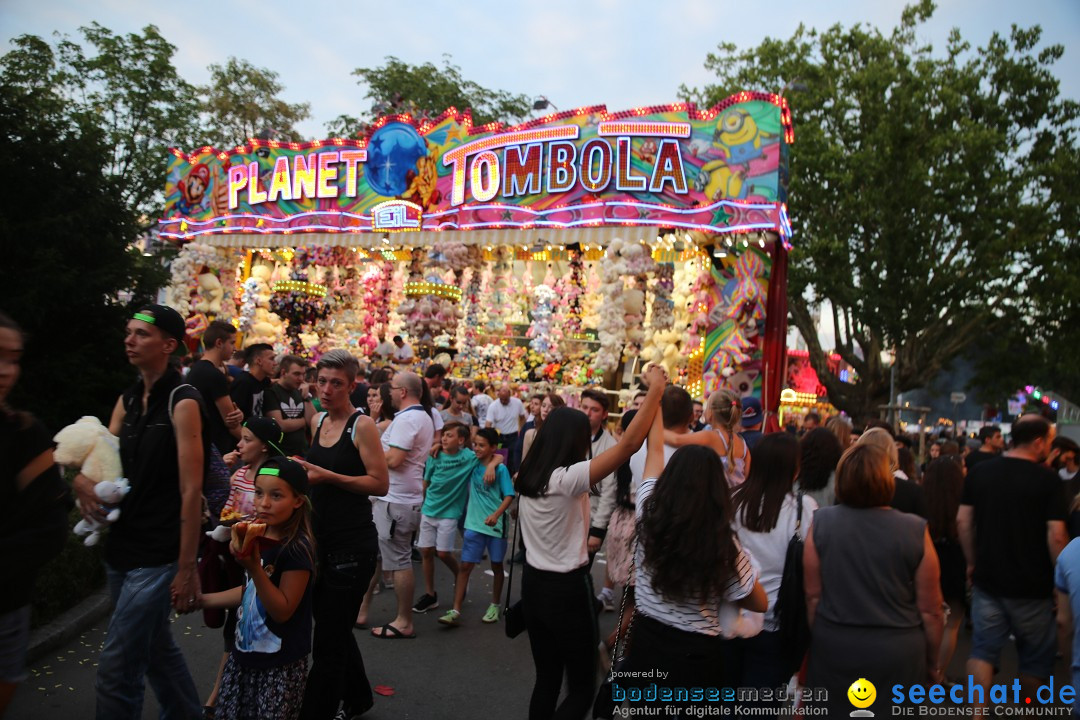
[[[608,388],[654,361],[774,411],[793,139],[783,98],[740,93],[173,150],[167,301],[194,336],[222,317],[311,357],[402,335],[460,377]]]

